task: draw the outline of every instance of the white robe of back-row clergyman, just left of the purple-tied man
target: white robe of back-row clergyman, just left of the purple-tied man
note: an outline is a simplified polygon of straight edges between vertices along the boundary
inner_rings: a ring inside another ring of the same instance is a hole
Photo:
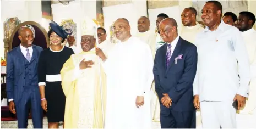
[[[157,35],[158,34],[158,35]],[[156,47],[157,42],[156,41],[162,41],[161,37],[159,37],[159,33],[154,33],[149,31],[146,32],[137,32],[136,37],[140,38],[140,40],[144,41],[145,43],[148,43],[150,46],[152,57],[154,59],[155,53],[156,53]],[[151,98],[151,114],[152,114],[152,120],[153,121],[160,121],[160,103],[157,96],[157,93],[155,92],[155,82],[152,82],[152,98]]]

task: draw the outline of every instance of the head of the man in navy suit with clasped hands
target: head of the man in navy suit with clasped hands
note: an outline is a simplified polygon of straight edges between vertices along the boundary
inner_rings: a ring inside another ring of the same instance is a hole
[[[171,43],[178,36],[178,25],[175,19],[166,18],[159,24],[160,36],[164,42]]]

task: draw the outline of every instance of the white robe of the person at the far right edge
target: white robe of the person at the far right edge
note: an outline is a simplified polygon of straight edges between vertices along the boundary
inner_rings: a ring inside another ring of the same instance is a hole
[[[250,75],[252,79],[249,85],[249,96],[246,106],[240,111],[241,114],[256,114],[256,31],[250,29],[242,32],[250,60]]]

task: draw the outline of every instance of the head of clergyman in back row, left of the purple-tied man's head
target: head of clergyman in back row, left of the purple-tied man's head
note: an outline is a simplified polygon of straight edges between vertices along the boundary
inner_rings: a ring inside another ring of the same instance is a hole
[[[146,16],[141,16],[138,20],[137,27],[139,32],[148,31],[150,27],[149,18],[147,18]]]

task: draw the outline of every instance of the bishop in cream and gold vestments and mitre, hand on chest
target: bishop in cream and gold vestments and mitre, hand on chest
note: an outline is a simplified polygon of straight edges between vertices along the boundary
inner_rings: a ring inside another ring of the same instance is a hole
[[[83,52],[73,54],[61,70],[65,128],[104,128],[106,79],[95,54],[97,26],[92,19],[85,21],[81,24]]]

